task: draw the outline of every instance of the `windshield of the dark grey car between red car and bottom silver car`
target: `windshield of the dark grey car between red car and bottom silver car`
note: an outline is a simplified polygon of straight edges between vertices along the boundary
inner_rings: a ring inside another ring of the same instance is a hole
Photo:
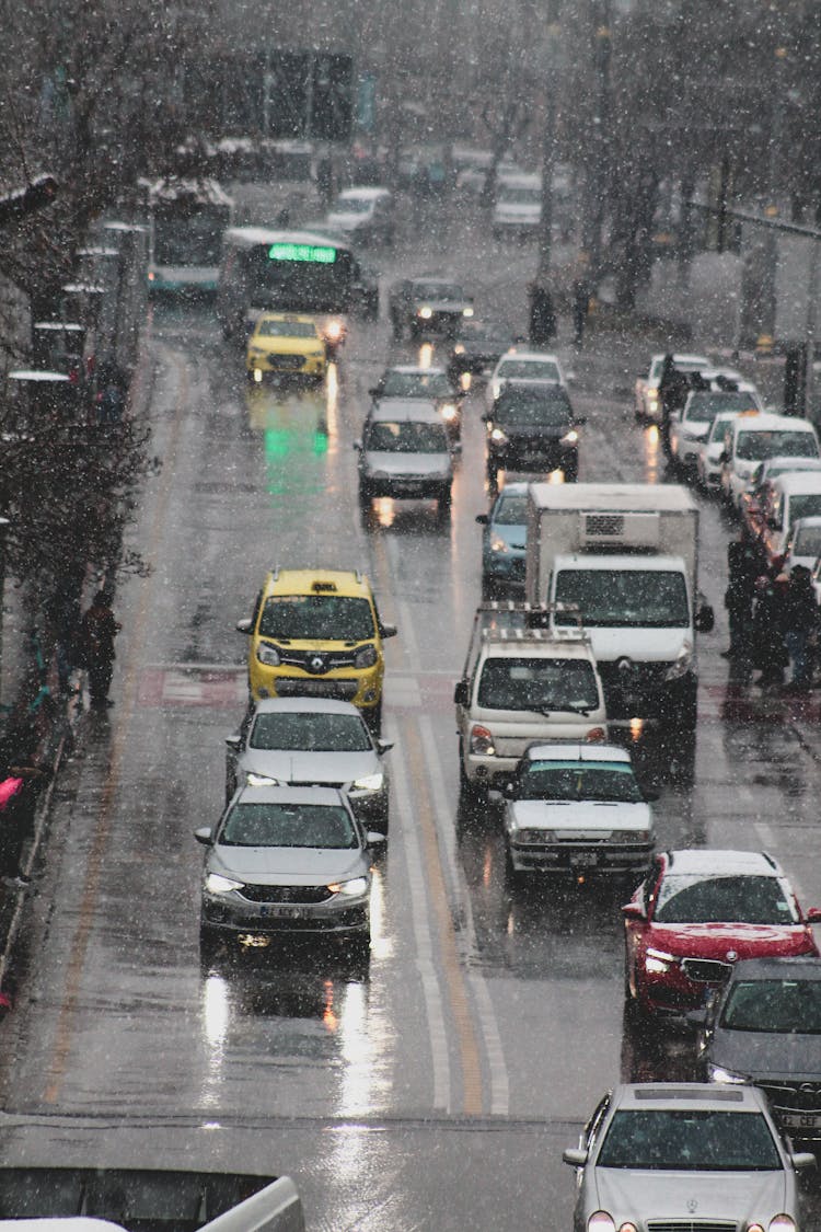
[[[740,979],[720,1026],[768,1035],[821,1035],[821,979]]]

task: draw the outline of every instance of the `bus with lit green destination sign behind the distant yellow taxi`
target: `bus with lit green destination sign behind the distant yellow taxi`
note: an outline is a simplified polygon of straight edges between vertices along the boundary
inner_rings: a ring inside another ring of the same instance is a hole
[[[217,317],[225,338],[242,346],[261,312],[310,313],[334,355],[346,314],[373,315],[374,293],[353,250],[335,237],[265,227],[231,227],[223,237]]]

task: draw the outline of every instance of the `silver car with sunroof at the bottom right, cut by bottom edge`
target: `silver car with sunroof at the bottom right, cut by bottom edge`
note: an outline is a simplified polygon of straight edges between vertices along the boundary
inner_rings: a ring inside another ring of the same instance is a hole
[[[799,1232],[796,1172],[753,1087],[633,1083],[608,1093],[564,1152],[577,1169],[574,1232]]]

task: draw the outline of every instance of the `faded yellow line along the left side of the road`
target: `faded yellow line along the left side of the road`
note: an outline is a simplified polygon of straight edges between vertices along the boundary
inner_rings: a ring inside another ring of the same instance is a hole
[[[165,532],[166,510],[169,498],[174,487],[174,461],[180,444],[182,429],[182,410],[188,397],[188,371],[181,361],[175,357],[177,371],[177,397],[174,408],[174,420],[166,451],[166,466],[162,468],[156,500],[154,504],[154,517],[148,542],[146,561],[154,559],[158,553],[160,538]],[[156,574],[154,574],[156,575]],[[108,772],[102,786],[97,821],[94,829],[89,859],[86,862],[86,876],[79,904],[79,923],[76,933],[71,940],[69,961],[65,968],[65,986],[60,1002],[60,1010],[57,1020],[54,1046],[52,1057],[47,1066],[47,1082],[43,1092],[43,1100],[47,1104],[57,1104],[63,1090],[63,1082],[68,1069],[69,1053],[74,1040],[74,1020],[82,987],[82,971],[85,967],[89,940],[95,924],[95,908],[98,899],[100,881],[105,866],[106,849],[111,838],[114,795],[119,782],[119,768],[128,745],[128,722],[121,721],[119,716],[128,716],[134,708],[134,700],[138,686],[138,664],[143,654],[143,646],[148,634],[148,609],[154,594],[154,583],[149,579],[144,583],[134,621],[133,637],[128,643],[126,668],[123,673],[122,705],[117,707],[116,721],[111,740],[111,760]]]

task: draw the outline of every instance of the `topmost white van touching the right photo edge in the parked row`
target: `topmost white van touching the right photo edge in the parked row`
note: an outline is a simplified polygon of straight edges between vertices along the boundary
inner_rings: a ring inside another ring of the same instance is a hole
[[[729,425],[721,455],[721,492],[741,508],[741,498],[753,487],[761,462],[778,456],[817,458],[819,437],[809,419],[791,415],[739,415]]]

